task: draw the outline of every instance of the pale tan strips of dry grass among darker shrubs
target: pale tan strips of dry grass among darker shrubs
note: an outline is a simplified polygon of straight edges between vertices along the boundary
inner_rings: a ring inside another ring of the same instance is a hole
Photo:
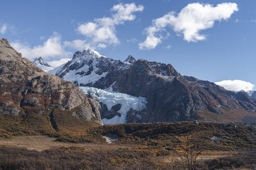
[[[61,147],[78,147],[83,148],[84,151],[98,150],[115,150],[115,149],[137,149],[138,145],[119,145],[119,144],[95,144],[95,143],[63,143],[55,141],[57,138],[48,136],[19,136],[13,138],[0,138],[0,146],[6,147],[21,147],[29,150],[43,151],[46,149],[61,148]],[[241,151],[240,151],[241,152]],[[211,160],[215,158],[222,158],[231,155],[236,155],[238,151],[207,151],[199,156],[199,160]],[[163,156],[159,159],[170,162],[171,158],[176,158],[174,155]]]

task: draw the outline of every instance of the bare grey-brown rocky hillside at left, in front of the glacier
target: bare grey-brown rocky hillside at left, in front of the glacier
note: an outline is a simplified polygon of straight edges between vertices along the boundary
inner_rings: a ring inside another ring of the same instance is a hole
[[[46,115],[54,111],[102,123],[98,103],[58,76],[47,74],[0,39],[0,115]]]

